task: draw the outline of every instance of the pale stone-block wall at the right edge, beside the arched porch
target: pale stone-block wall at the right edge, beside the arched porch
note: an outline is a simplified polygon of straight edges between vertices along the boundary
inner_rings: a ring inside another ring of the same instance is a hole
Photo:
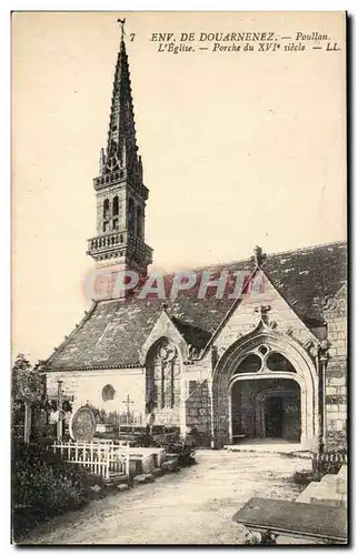
[[[347,442],[347,297],[342,287],[325,310],[329,359],[326,369],[326,443]]]

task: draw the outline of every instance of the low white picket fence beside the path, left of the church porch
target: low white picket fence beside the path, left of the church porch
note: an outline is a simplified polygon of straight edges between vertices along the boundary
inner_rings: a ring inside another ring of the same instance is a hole
[[[51,445],[54,453],[70,464],[79,464],[106,481],[111,476],[129,474],[129,444],[115,445],[113,442],[57,442]]]

